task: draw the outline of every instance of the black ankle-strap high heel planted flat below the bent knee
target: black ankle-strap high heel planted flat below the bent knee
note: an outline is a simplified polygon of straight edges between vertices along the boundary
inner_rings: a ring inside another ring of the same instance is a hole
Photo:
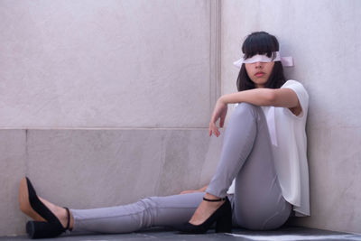
[[[230,233],[232,231],[232,208],[228,198],[203,199],[206,201],[225,200],[225,202],[201,225],[192,225],[190,222],[187,222],[175,228],[181,233],[204,234],[208,231],[209,227],[216,223],[216,233]]]

